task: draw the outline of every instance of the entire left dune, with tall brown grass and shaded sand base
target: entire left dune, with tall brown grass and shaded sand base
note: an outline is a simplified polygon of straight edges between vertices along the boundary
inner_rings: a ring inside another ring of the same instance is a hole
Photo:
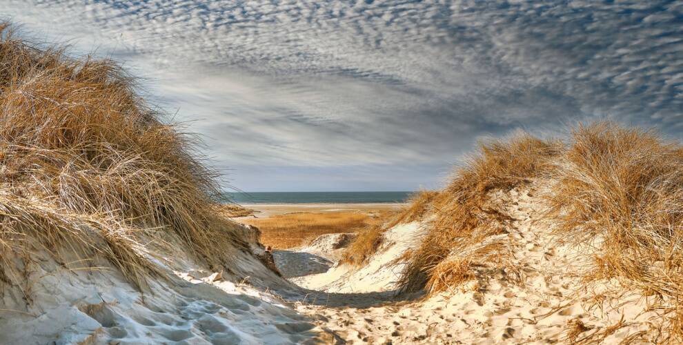
[[[0,24],[1,344],[317,339],[160,116],[115,63]]]

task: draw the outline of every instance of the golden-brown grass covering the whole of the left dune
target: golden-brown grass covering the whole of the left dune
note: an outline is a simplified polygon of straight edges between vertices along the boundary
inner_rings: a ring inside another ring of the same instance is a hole
[[[0,194],[12,200],[3,266],[32,250],[22,247],[29,239],[45,248],[69,239],[81,254],[106,248],[139,281],[148,274],[140,234],[152,233],[178,237],[210,265],[227,262],[241,241],[215,211],[215,173],[163,117],[117,63],[33,45],[0,23]]]

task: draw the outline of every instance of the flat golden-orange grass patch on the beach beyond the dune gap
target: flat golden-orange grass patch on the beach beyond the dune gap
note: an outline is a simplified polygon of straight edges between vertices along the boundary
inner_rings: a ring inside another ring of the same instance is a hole
[[[373,213],[382,213],[375,211]],[[261,230],[261,243],[273,248],[293,248],[330,233],[355,233],[379,219],[367,212],[285,213],[266,218],[243,219]]]

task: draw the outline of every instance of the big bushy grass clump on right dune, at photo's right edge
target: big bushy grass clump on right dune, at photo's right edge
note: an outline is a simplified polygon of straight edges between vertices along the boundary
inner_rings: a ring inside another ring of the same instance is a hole
[[[651,130],[577,126],[548,197],[554,232],[595,248],[586,282],[617,279],[660,307],[683,294],[683,146]],[[683,339],[679,331],[672,333]]]

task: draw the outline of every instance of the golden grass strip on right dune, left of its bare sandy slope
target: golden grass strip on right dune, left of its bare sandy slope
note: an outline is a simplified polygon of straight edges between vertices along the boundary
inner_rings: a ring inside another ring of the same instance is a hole
[[[563,146],[518,133],[479,147],[432,201],[429,230],[402,272],[404,290],[449,290],[472,279],[475,266],[504,266],[510,253],[498,235],[511,218],[493,196],[547,173]]]

